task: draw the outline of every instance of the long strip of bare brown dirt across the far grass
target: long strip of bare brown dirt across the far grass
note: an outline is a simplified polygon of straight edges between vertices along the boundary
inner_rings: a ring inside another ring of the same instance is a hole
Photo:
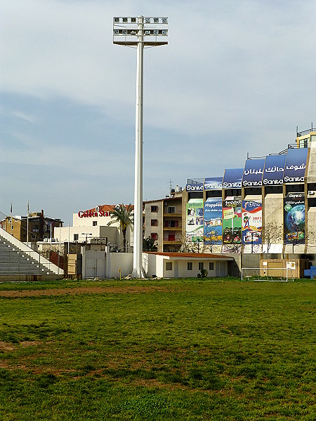
[[[134,294],[134,293],[175,293],[180,290],[166,288],[163,286],[125,286],[125,287],[102,287],[102,286],[83,286],[76,288],[54,288],[41,290],[8,290],[0,291],[0,297],[22,298],[22,297],[45,297],[51,295],[76,295],[76,294]]]

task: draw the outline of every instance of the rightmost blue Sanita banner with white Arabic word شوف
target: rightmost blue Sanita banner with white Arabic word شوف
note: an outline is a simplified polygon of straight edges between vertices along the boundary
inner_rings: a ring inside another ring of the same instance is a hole
[[[284,183],[304,182],[308,148],[288,149],[284,170]]]

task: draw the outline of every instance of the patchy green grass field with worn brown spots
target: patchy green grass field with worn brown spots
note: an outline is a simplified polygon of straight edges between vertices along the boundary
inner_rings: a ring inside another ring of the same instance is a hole
[[[2,283],[0,419],[316,420],[315,291],[308,280]]]

